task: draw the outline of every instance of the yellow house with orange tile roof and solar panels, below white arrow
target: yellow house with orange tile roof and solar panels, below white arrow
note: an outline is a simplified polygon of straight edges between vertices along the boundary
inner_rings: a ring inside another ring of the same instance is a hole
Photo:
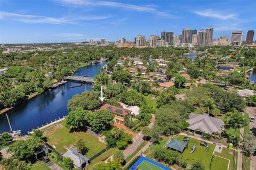
[[[115,123],[122,124],[122,125],[124,125],[125,116],[129,116],[132,114],[132,111],[129,111],[128,109],[112,106],[109,104],[105,104],[101,106],[99,110],[111,111],[115,115],[115,118],[114,118]]]

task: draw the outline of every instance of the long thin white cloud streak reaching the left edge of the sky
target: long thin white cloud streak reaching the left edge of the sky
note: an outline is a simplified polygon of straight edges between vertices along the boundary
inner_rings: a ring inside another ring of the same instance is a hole
[[[103,19],[108,19],[110,17],[111,15],[105,15],[105,16],[87,15],[87,16],[79,16],[79,17],[63,16],[61,18],[53,18],[48,16],[25,15],[25,14],[0,11],[0,19],[8,18],[8,19],[20,21],[23,23],[76,24],[77,21],[103,20]]]

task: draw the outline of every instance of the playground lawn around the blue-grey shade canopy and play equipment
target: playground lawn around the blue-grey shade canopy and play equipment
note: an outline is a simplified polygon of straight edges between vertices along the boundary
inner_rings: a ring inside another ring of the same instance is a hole
[[[174,139],[180,139],[180,141],[183,140],[185,136],[179,135],[175,136]],[[187,164],[194,164],[197,161],[200,161],[205,169],[210,169],[210,163],[212,158],[212,153],[214,151],[215,145],[208,143],[209,145],[209,151],[205,151],[206,147],[200,146],[201,141],[190,138],[188,148],[185,148],[185,150],[182,153],[183,158],[187,162]],[[193,145],[196,145],[196,150],[193,153],[189,153],[191,151],[191,148]],[[214,170],[227,170],[228,167],[228,160],[214,156],[212,168]]]

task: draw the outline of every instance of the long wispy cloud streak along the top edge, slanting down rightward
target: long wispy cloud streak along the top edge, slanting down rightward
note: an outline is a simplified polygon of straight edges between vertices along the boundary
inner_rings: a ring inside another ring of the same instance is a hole
[[[87,5],[87,6],[109,6],[116,8],[123,8],[126,10],[138,11],[138,12],[148,12],[153,13],[156,16],[162,18],[179,18],[178,16],[171,15],[168,12],[159,11],[157,5],[133,5],[119,2],[110,2],[110,1],[90,1],[90,0],[59,0],[62,3],[73,4],[73,5]]]

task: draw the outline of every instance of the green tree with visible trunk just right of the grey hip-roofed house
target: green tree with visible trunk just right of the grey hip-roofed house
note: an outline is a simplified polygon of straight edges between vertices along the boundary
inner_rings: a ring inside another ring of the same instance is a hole
[[[236,137],[236,130],[244,127],[247,124],[244,116],[236,110],[234,112],[227,113],[226,117],[224,118],[224,123],[225,123],[225,128],[235,129],[234,138]]]

